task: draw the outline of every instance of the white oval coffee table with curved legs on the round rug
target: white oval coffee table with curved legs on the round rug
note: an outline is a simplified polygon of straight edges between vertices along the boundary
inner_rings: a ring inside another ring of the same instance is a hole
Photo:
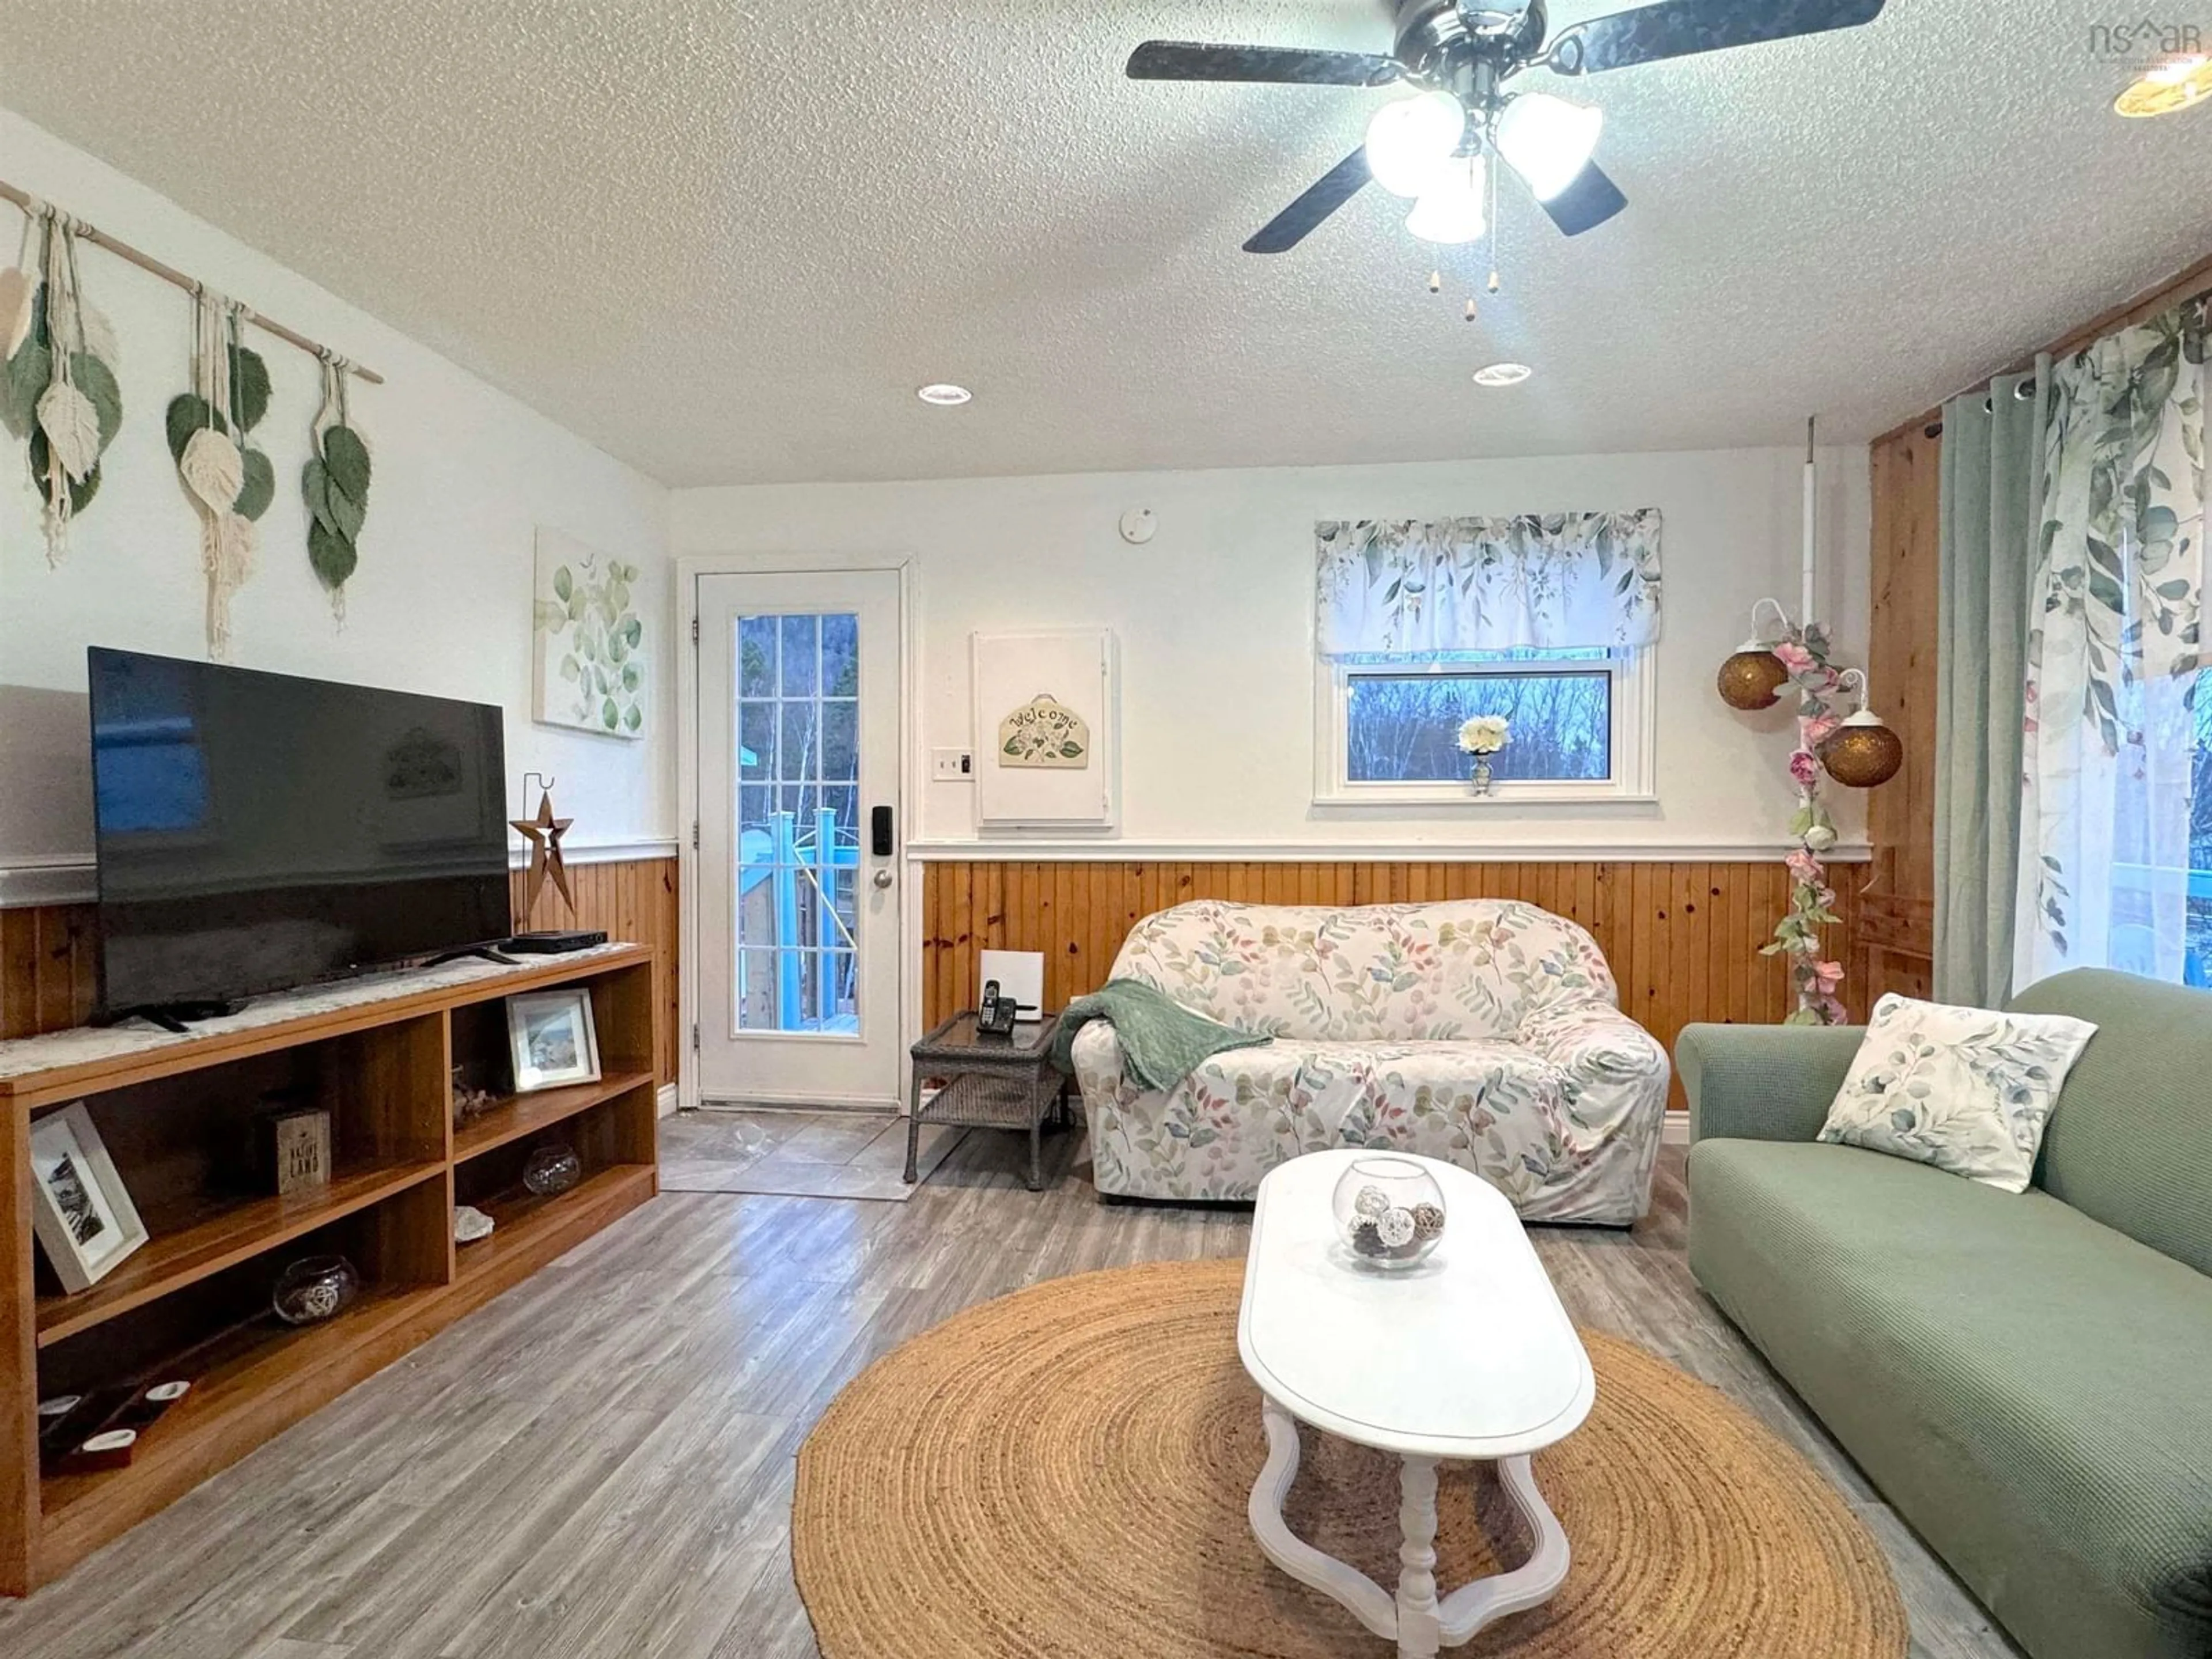
[[[1252,1486],[1252,1533],[1270,1562],[1396,1641],[1405,1659],[1431,1659],[1566,1579],[1566,1531],[1537,1493],[1528,1455],[1582,1425],[1597,1378],[1513,1206],[1467,1170],[1409,1159],[1444,1190],[1442,1241],[1394,1274],[1354,1265],[1336,1241],[1329,1194],[1360,1157],[1383,1155],[1310,1152],[1259,1183],[1237,1321],[1237,1349],[1265,1396],[1267,1467]],[[1301,1422],[1402,1460],[1396,1595],[1283,1522]],[[1440,1460],[1495,1462],[1535,1531],[1524,1566],[1442,1599]]]

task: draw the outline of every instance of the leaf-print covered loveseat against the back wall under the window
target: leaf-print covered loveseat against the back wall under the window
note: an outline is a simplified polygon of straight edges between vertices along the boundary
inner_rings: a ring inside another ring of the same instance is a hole
[[[1301,1152],[1389,1146],[1473,1170],[1531,1221],[1650,1206],[1666,1051],[1619,1011],[1597,942],[1535,905],[1201,900],[1137,922],[1113,975],[1274,1042],[1161,1095],[1086,1024],[1073,1064],[1102,1194],[1250,1199]]]

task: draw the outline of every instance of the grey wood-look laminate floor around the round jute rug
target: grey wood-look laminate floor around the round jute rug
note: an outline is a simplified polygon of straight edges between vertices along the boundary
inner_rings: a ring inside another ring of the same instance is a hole
[[[1053,1152],[1064,1170],[1073,1139]],[[814,1655],[792,1455],[847,1378],[1037,1279],[1243,1252],[1245,1214],[1104,1208],[1073,1172],[1024,1192],[1022,1157],[1015,1137],[969,1135],[911,1203],[664,1194],[60,1584],[0,1601],[0,1652]],[[1681,1239],[1677,1148],[1632,1234],[1537,1230],[1579,1321],[1719,1385],[1849,1493],[1896,1566],[1916,1659],[2011,1655],[1699,1296]]]

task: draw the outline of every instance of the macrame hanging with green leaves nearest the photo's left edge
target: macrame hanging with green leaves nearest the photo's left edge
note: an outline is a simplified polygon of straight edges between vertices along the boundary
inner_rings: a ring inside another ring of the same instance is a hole
[[[46,562],[60,564],[71,520],[100,493],[100,458],[124,425],[124,394],[115,330],[77,283],[77,221],[46,204],[27,210],[22,250],[0,276],[0,420],[27,440],[31,480],[46,504]]]

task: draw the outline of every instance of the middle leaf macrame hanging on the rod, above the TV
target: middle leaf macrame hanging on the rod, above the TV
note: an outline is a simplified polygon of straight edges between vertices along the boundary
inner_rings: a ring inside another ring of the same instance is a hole
[[[230,655],[230,599],[254,568],[259,520],[276,498],[276,469],[248,442],[270,407],[270,372],[239,345],[243,307],[206,288],[192,294],[192,389],[170,398],[168,453],[199,513],[208,577],[208,655]]]

